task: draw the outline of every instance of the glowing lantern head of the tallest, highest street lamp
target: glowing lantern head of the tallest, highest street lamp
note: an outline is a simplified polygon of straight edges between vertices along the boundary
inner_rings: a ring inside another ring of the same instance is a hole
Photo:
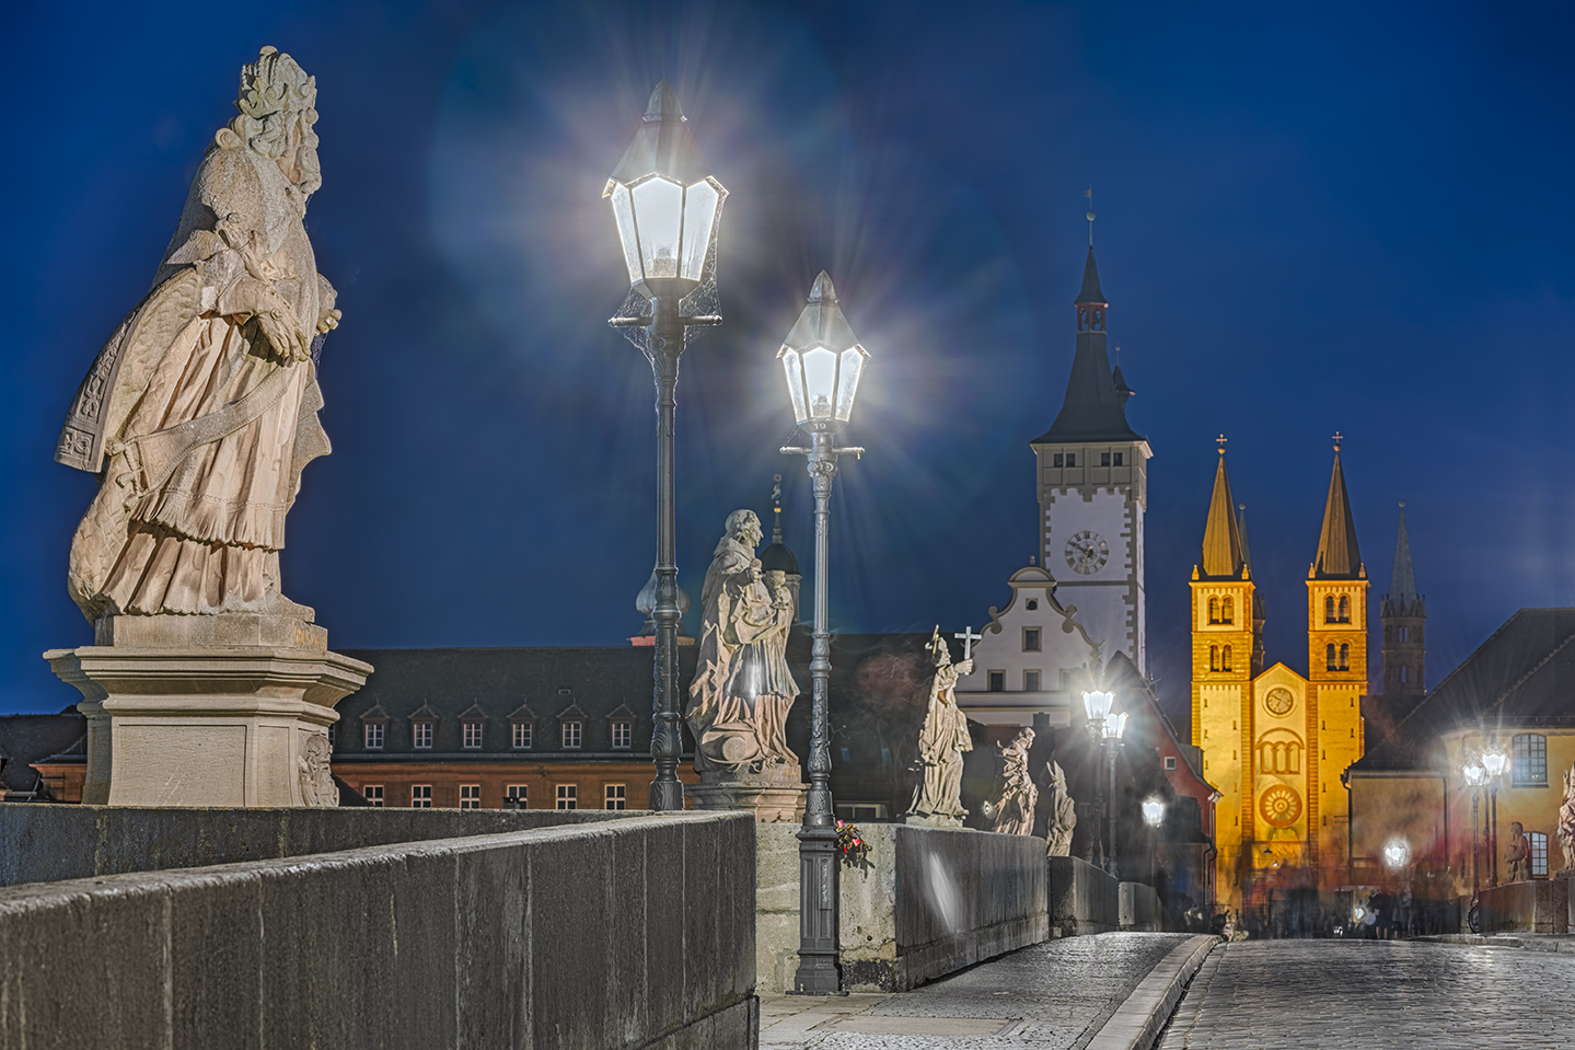
[[[701,158],[666,80],[650,93],[639,131],[602,195],[613,200],[632,287],[657,298],[699,285],[728,191]]]

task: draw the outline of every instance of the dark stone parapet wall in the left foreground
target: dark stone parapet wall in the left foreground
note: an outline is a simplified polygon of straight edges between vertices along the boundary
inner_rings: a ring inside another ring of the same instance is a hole
[[[636,814],[9,886],[0,1045],[743,1050],[754,881],[751,817]]]

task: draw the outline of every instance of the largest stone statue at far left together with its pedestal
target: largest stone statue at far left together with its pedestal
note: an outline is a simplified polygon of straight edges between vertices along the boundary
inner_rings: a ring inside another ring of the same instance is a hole
[[[317,82],[263,47],[235,106],[55,446],[99,482],[66,571],[94,645],[44,654],[83,694],[88,804],[337,806],[332,708],[372,673],[279,583],[340,317],[304,225]]]

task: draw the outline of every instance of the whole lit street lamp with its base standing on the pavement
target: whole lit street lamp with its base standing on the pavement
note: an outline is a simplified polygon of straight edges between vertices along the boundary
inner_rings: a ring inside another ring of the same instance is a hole
[[[784,454],[808,456],[814,484],[814,645],[810,650],[813,706],[810,709],[810,796],[799,832],[799,971],[794,992],[836,995],[838,973],[838,850],[836,815],[832,809],[832,754],[827,700],[832,683],[832,635],[827,629],[825,575],[827,527],[836,457],[863,454],[862,448],[836,448],[835,435],[854,411],[858,380],[869,355],[854,337],[832,279],[821,271],[810,301],[776,353],[788,377],[794,421],[810,435],[810,448],[783,448]]]

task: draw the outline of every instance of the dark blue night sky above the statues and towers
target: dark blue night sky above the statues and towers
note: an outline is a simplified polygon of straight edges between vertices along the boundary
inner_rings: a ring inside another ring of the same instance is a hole
[[[1575,604],[1562,6],[1362,3],[8,5],[0,711],[76,692],[65,593],[93,479],[68,399],[146,290],[238,69],[318,79],[307,218],[345,322],[285,591],[335,648],[610,643],[650,571],[644,359],[602,184],[655,80],[731,191],[726,323],[679,385],[680,579],[803,462],[773,355],[830,270],[873,355],[833,497],[836,626],[978,626],[1035,550],[1093,184],[1110,334],[1154,448],[1153,670],[1186,706],[1213,437],[1249,505],[1271,661],[1345,434],[1373,596],[1405,498],[1430,680]],[[693,627],[693,624],[691,624]],[[1375,646],[1377,653],[1377,646]]]

